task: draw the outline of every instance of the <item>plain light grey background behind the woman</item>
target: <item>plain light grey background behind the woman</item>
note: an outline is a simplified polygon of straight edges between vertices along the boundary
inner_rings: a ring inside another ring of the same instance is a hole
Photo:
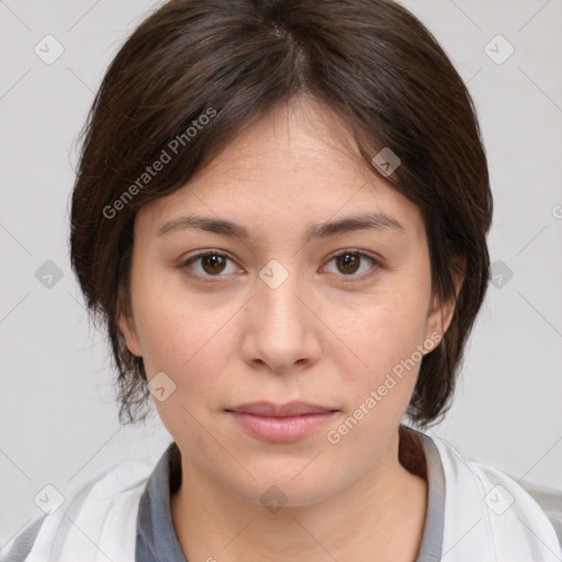
[[[497,286],[432,431],[516,480],[562,488],[562,2],[404,3],[469,85],[495,198]],[[67,497],[122,459],[156,462],[170,441],[156,414],[120,428],[108,347],[67,245],[77,134],[120,44],[155,5],[0,1],[0,547],[42,514],[33,498],[45,485]],[[64,47],[50,65],[34,52],[56,54],[47,34]],[[497,34],[515,48],[505,60]],[[63,276],[50,286],[35,277],[47,260]]]

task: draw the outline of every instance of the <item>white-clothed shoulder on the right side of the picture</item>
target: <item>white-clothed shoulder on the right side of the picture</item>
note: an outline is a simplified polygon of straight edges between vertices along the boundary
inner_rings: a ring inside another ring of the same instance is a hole
[[[560,492],[522,484],[442,438],[423,438],[435,445],[443,470],[443,552],[452,557],[443,560],[470,560],[474,553],[513,561],[562,559]]]

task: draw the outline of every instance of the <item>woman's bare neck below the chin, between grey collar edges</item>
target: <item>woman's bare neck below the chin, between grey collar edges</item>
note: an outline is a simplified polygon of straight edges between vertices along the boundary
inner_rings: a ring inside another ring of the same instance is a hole
[[[414,562],[427,509],[424,457],[416,447],[396,432],[384,458],[338,494],[274,513],[182,459],[171,513],[183,553],[188,560],[220,562],[315,562],[327,555],[364,559],[369,552],[380,562]]]

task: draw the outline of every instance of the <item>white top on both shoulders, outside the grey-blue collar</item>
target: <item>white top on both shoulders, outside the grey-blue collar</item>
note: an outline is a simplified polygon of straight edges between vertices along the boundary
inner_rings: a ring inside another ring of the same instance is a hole
[[[425,529],[424,532],[424,539],[442,536],[441,543],[437,546],[440,548],[436,549],[439,551],[436,552],[436,557],[439,554],[437,560],[562,561],[561,539],[557,536],[557,531],[562,535],[562,492],[529,488],[547,506],[546,510],[506,474],[464,458],[443,439],[417,434],[426,454],[429,483],[436,482],[437,468],[442,469],[445,482],[442,517],[426,519],[426,525],[434,521],[431,525],[442,525],[442,529]],[[145,462],[127,462],[91,481],[66,507],[44,518],[25,560],[106,562],[110,559],[112,562],[136,562],[139,501],[151,472],[153,467]],[[431,485],[429,493],[429,503],[437,505],[436,490],[431,490]],[[171,526],[171,516],[168,525]],[[418,557],[419,562],[434,560],[427,542],[425,540],[424,544],[423,541],[420,551],[425,547],[425,554]],[[0,561],[18,560],[22,559],[15,558],[13,551],[0,552]]]

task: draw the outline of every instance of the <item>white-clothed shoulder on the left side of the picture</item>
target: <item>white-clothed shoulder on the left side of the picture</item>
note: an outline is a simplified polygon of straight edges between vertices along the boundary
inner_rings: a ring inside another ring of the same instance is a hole
[[[145,461],[130,461],[101,472],[58,509],[27,525],[0,551],[0,561],[94,561],[101,555],[94,543],[104,546],[104,555],[111,552],[113,560],[127,560],[134,552],[138,502],[151,469]]]

